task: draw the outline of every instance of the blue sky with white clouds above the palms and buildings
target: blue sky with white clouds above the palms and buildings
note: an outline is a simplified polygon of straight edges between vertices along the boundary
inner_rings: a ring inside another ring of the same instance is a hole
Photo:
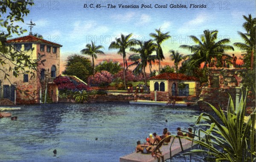
[[[242,42],[237,31],[245,32],[242,28],[244,18],[252,14],[255,17],[255,0],[35,0],[30,7],[30,13],[24,18],[25,23],[19,26],[27,29],[24,35],[29,34],[26,23],[36,25],[33,33],[43,35],[44,39],[59,43],[61,59],[65,60],[71,54],[79,54],[91,41],[108,50],[111,41],[120,36],[133,33],[138,40],[152,39],[149,34],[154,29],[161,28],[169,32],[171,39],[163,42],[165,55],[169,50],[178,50],[181,54],[190,54],[188,50],[180,49],[182,44],[192,45],[189,35],[199,36],[205,29],[218,30],[218,38],[230,38],[233,45]],[[144,6],[150,8],[141,8]],[[187,8],[170,8],[171,6],[186,5]],[[206,8],[190,8],[193,5],[204,5]],[[97,6],[98,5],[98,6]],[[101,7],[100,6],[106,6]],[[116,5],[116,8],[108,8]],[[119,8],[121,5],[121,8]],[[126,8],[122,5],[138,5],[139,9]],[[158,6],[167,8],[156,8]],[[94,8],[93,8],[94,7]],[[98,7],[98,8],[97,8]],[[132,54],[127,50],[128,55]],[[235,52],[239,49],[235,48]]]

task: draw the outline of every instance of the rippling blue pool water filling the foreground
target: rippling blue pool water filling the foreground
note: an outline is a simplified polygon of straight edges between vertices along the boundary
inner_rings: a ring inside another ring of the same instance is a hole
[[[149,133],[161,135],[164,127],[172,134],[177,127],[187,130],[199,114],[186,107],[127,103],[21,106],[12,111],[17,121],[0,119],[0,161],[118,162]]]

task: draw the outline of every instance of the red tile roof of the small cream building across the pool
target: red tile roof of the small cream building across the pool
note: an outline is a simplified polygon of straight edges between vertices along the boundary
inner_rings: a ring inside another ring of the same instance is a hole
[[[180,80],[180,81],[199,81],[198,78],[194,76],[188,76],[181,73],[171,73],[171,72],[165,72],[163,74],[153,76],[150,78],[150,80]]]

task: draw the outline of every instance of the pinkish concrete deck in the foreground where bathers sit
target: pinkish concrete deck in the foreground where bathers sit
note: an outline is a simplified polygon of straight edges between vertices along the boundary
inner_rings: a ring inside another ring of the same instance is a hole
[[[173,140],[173,137],[171,141],[172,140]],[[187,139],[181,139],[181,142],[182,142],[183,150],[191,148],[192,141],[189,141]],[[193,143],[193,145],[195,145],[195,142]],[[160,147],[164,160],[170,158],[170,146],[171,146],[171,142],[169,142],[168,145],[162,145]],[[172,143],[171,151],[172,151],[172,156],[182,151],[178,138],[174,139],[174,142]],[[143,153],[134,152],[134,153],[130,153],[128,155],[120,157],[119,162],[157,162],[157,158],[152,157],[151,153],[143,154]]]

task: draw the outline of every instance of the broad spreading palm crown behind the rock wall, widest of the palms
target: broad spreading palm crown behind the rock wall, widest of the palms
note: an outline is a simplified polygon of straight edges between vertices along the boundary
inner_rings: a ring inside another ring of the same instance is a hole
[[[197,38],[194,35],[189,36],[196,45],[181,45],[180,48],[188,49],[193,53],[192,55],[189,55],[190,64],[200,66],[200,64],[204,62],[204,68],[206,68],[207,64],[210,63],[211,58],[219,55],[227,55],[224,53],[224,50],[234,50],[233,46],[227,45],[227,43],[230,43],[229,39],[222,39],[215,42],[217,36],[218,30],[209,31],[207,29],[204,30],[204,35],[201,35],[200,38]]]

